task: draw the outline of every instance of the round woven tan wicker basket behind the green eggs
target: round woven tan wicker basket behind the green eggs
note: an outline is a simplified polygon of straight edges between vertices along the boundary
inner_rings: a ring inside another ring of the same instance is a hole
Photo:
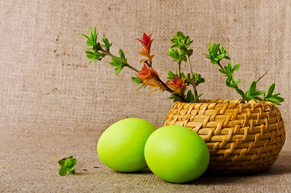
[[[280,110],[270,102],[240,102],[176,102],[164,125],[182,125],[199,134],[209,148],[209,173],[266,170],[275,163],[285,142]]]

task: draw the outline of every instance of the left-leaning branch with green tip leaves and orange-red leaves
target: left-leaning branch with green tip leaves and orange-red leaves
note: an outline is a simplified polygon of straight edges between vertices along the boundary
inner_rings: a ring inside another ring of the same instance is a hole
[[[142,70],[137,70],[134,67],[130,66],[127,58],[125,57],[124,52],[119,49],[119,57],[113,55],[110,53],[110,48],[112,47],[112,43],[109,42],[109,40],[106,37],[102,38],[103,44],[97,41],[97,33],[96,33],[96,27],[94,28],[94,32],[89,29],[89,36],[82,34],[85,38],[87,38],[87,45],[90,46],[90,48],[86,49],[86,56],[90,59],[89,63],[94,62],[95,60],[102,60],[103,57],[106,55],[110,56],[112,59],[112,62],[109,64],[112,65],[115,68],[115,74],[118,74],[124,67],[128,67],[131,70],[134,70],[135,72],[138,72],[136,77],[131,77],[131,80],[137,84],[141,84],[138,89],[146,88],[146,86],[149,86],[149,88],[156,88],[153,91],[156,90],[166,90],[172,95],[175,95],[176,98],[178,98],[178,101],[186,102],[186,98],[184,95],[181,95],[179,93],[176,93],[175,90],[168,87],[159,77],[159,74],[152,69],[152,59],[154,55],[150,55],[150,45],[153,39],[150,39],[151,35],[144,34],[143,40],[138,39],[145,49],[143,51],[139,52],[141,55],[146,56],[147,59],[142,59],[141,62],[144,62],[144,64],[148,67],[145,67]],[[149,73],[149,74],[147,74]],[[153,92],[152,91],[152,92]],[[150,94],[152,93],[150,92]]]

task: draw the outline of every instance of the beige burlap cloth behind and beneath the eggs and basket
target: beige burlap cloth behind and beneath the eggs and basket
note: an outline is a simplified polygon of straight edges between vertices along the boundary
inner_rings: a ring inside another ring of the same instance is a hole
[[[110,124],[139,117],[160,127],[172,102],[165,92],[150,97],[147,88],[136,92],[133,71],[115,76],[109,58],[88,65],[80,34],[95,25],[99,38],[113,41],[112,53],[122,48],[138,69],[142,46],[135,38],[153,33],[153,64],[163,80],[176,67],[165,54],[169,39],[178,30],[190,35],[194,71],[206,79],[198,87],[202,98],[238,98],[203,56],[208,41],[220,42],[232,63],[241,64],[235,77],[242,78],[243,89],[268,70],[258,87],[276,83],[275,91],[285,98],[280,110],[287,130],[273,168],[259,175],[207,176],[175,185],[149,171],[124,175],[104,167],[96,144]],[[288,191],[290,30],[290,0],[1,0],[0,191]],[[78,159],[78,175],[60,177],[57,159],[69,155]]]

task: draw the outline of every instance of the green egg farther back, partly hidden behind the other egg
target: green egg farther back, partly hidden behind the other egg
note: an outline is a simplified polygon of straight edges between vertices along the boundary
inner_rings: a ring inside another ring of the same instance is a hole
[[[108,127],[97,144],[100,160],[118,172],[136,172],[147,168],[145,144],[156,130],[151,123],[138,118],[118,121]]]

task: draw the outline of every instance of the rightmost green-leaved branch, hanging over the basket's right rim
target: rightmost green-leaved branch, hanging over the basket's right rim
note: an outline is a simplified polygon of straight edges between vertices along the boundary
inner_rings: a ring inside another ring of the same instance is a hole
[[[204,55],[208,59],[210,59],[210,62],[212,65],[217,64],[220,67],[220,69],[218,69],[219,72],[226,76],[226,82],[225,82],[226,86],[229,88],[234,88],[236,90],[236,92],[241,95],[241,97],[242,97],[241,103],[243,103],[245,101],[249,102],[250,100],[254,100],[255,102],[257,102],[257,101],[269,101],[269,102],[272,102],[276,105],[280,105],[280,103],[282,103],[284,101],[284,99],[282,97],[278,96],[278,95],[280,95],[280,93],[273,95],[273,92],[275,89],[275,83],[270,86],[270,88],[267,92],[267,95],[266,95],[266,91],[261,91],[261,90],[258,90],[256,88],[257,82],[267,72],[263,76],[261,76],[259,78],[259,80],[252,81],[248,90],[246,92],[243,92],[238,86],[241,82],[241,79],[235,80],[233,78],[233,73],[240,68],[240,64],[236,64],[236,65],[234,65],[234,67],[232,67],[231,63],[228,62],[227,66],[225,66],[223,68],[221,63],[220,63],[220,61],[223,59],[230,60],[230,58],[226,55],[227,53],[228,52],[226,51],[225,47],[222,47],[222,49],[220,49],[220,43],[218,43],[218,44],[213,43],[212,46],[210,43],[208,43],[208,54],[204,53]]]

